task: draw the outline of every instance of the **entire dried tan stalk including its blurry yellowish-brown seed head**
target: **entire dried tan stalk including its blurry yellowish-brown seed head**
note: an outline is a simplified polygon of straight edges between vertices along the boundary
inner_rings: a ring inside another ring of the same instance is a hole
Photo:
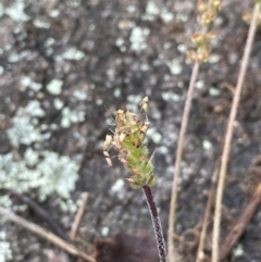
[[[177,153],[175,161],[174,170],[174,182],[172,186],[172,197],[171,197],[171,207],[170,207],[170,216],[169,216],[169,233],[167,233],[167,247],[169,247],[169,258],[170,262],[175,262],[174,255],[174,226],[175,226],[175,209],[176,209],[176,199],[177,199],[177,182],[181,173],[181,162],[183,157],[183,144],[185,138],[185,133],[188,123],[189,111],[191,108],[192,92],[196,79],[198,77],[198,72],[200,63],[207,62],[210,54],[210,42],[212,39],[216,38],[216,34],[212,30],[209,30],[210,24],[214,21],[215,16],[221,10],[222,0],[209,0],[201,1],[197,3],[198,9],[198,22],[200,24],[200,32],[196,32],[191,36],[191,40],[195,43],[197,51],[188,51],[188,58],[194,62],[192,74],[190,76],[190,83],[188,87],[188,95],[185,103],[185,109],[182,118],[182,127],[179,132],[179,139],[177,145]]]

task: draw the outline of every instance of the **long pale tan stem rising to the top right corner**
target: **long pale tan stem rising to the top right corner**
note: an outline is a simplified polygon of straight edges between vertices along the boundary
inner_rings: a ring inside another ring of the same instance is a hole
[[[243,62],[237,79],[237,86],[235,90],[235,96],[233,98],[229,120],[227,124],[226,129],[226,136],[225,136],[225,144],[223,149],[223,154],[221,159],[221,171],[220,171],[220,178],[219,178],[219,185],[216,190],[216,202],[215,202],[215,213],[214,213],[214,227],[213,227],[213,242],[212,242],[212,262],[219,261],[219,244],[220,244],[220,224],[221,224],[221,209],[222,209],[222,199],[223,199],[223,192],[224,192],[224,183],[225,183],[225,176],[226,176],[226,170],[227,170],[227,162],[228,162],[228,155],[231,151],[231,140],[233,135],[233,126],[236,118],[237,108],[239,104],[240,99],[240,92],[243,88],[243,83],[245,79],[248,61],[253,43],[254,33],[257,28],[257,20],[260,11],[260,4],[261,1],[258,1],[254,4],[253,11],[252,11],[252,18],[251,24],[248,33],[247,43],[244,50],[243,55]]]

